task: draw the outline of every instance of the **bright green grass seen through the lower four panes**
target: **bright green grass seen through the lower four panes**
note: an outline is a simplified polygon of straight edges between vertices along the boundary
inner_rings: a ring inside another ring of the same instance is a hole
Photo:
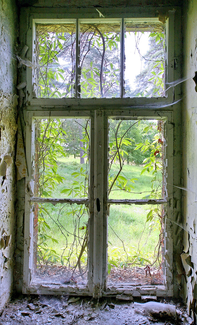
[[[74,172],[78,172],[84,165],[80,165],[80,159],[70,158],[59,158],[59,175],[65,177],[64,183],[58,185],[57,189],[53,192],[53,197],[66,198],[65,194],[60,193],[64,188],[71,187],[73,180],[76,180],[73,175]],[[112,191],[110,194],[111,199],[141,199],[151,191],[151,179],[152,175],[145,172],[140,175],[142,166],[124,165],[123,173],[129,178],[138,178],[135,181],[133,190],[134,192],[145,192],[142,194],[126,193],[124,191]],[[116,172],[118,169],[114,165],[112,170]],[[78,177],[79,181],[83,181],[83,177]],[[58,240],[58,243],[47,240],[47,245],[52,247],[57,254],[62,254],[63,248],[66,246],[71,248],[74,237],[72,236],[74,229],[83,227],[87,223],[88,215],[85,211],[80,218],[76,218],[76,215],[72,215],[72,207],[76,208],[77,205],[64,205],[57,204],[53,206],[50,203],[43,205],[49,212],[49,215],[44,214],[44,218],[50,227],[47,228],[46,233]],[[78,206],[79,207],[79,206]],[[152,226],[150,231],[149,224],[146,222],[147,214],[150,211],[148,205],[111,205],[110,215],[108,217],[108,244],[109,244],[109,258],[113,261],[120,263],[126,261],[127,256],[123,250],[123,243],[129,259],[132,260],[132,256],[139,254],[146,259],[153,260],[154,248],[158,243],[160,225],[156,222]],[[76,221],[77,219],[77,221]],[[155,219],[156,221],[156,219]],[[78,223],[77,223],[78,222]],[[83,238],[85,230],[77,231],[77,235]],[[122,243],[122,241],[123,243]],[[80,252],[79,248],[77,251],[77,245],[79,241],[76,240],[73,246],[73,263],[77,261],[77,253]],[[140,252],[140,253],[139,253]],[[68,253],[68,249],[65,250],[64,255]],[[84,253],[84,258],[86,253]]]

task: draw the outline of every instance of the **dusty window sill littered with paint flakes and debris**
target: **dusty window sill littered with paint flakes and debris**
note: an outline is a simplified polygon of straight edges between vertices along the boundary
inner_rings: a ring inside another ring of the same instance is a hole
[[[159,299],[159,302],[168,303],[164,298]],[[23,295],[7,303],[0,316],[0,325],[191,324],[191,318],[188,318],[184,305],[175,304],[173,301],[170,303],[176,305],[177,320],[153,318],[145,311],[136,308],[132,300],[124,301],[115,297],[98,300],[91,297],[69,297],[68,295]]]

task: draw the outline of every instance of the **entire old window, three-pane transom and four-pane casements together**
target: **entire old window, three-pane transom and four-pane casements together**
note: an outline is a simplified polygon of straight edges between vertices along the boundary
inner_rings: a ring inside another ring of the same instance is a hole
[[[87,16],[29,18],[24,292],[172,295],[172,191],[166,180],[173,179],[173,114],[162,109],[173,94],[165,90],[171,18],[164,24],[155,16]],[[130,56],[135,62],[150,39],[156,62],[132,74]],[[141,165],[136,175],[135,162]],[[140,174],[150,176],[146,186]],[[141,229],[149,226],[146,235],[155,227],[162,269],[155,282],[137,279],[133,285],[133,265],[151,265],[155,245],[155,238],[139,246],[129,241],[137,216]],[[128,245],[119,236],[123,227]],[[136,290],[136,284],[148,286]]]

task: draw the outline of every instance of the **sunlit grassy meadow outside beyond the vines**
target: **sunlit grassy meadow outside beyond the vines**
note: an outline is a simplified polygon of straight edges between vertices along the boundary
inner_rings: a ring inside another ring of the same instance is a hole
[[[84,177],[74,178],[72,173],[86,168],[85,164],[80,164],[80,158],[58,158],[58,174],[63,175],[63,184],[57,186],[52,197],[66,198],[66,193],[61,193],[65,188],[72,186],[72,182],[84,181]],[[149,195],[151,191],[151,173],[142,171],[141,165],[124,165],[122,173],[128,178],[137,178],[133,183],[135,193],[125,191],[112,191],[110,199],[142,199]],[[111,172],[116,173],[118,167],[113,164]],[[148,197],[147,197],[148,198]],[[40,216],[43,217],[49,227],[45,227],[46,237],[46,259],[49,261],[61,261],[74,265],[82,247],[82,242],[86,234],[86,224],[88,213],[85,206],[77,204],[57,204],[51,203],[42,205]],[[111,205],[108,216],[108,262],[111,266],[132,266],[137,263],[151,264],[154,260],[154,250],[159,240],[160,220],[154,217],[152,222],[147,221],[147,214],[150,211],[149,205]],[[42,222],[41,222],[42,223]],[[42,224],[43,225],[43,224]],[[50,229],[49,229],[50,228]],[[73,236],[75,233],[75,236]],[[54,239],[54,240],[53,240]],[[51,256],[51,257],[50,257]],[[54,259],[54,256],[55,259]],[[147,261],[149,262],[147,262]],[[85,249],[82,259],[85,265],[87,261],[87,251]]]

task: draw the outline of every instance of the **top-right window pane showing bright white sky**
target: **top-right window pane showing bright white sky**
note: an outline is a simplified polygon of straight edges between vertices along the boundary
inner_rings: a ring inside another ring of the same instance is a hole
[[[165,25],[125,24],[125,97],[165,96]]]

